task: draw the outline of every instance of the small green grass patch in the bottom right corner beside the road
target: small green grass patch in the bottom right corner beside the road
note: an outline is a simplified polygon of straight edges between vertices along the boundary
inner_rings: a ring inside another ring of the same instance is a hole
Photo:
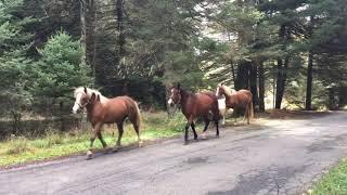
[[[347,194],[347,158],[333,167],[327,174],[312,187],[312,195],[346,195]]]

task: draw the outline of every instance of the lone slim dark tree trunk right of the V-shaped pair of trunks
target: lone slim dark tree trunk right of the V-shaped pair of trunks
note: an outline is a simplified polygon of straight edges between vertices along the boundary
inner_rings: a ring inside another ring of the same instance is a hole
[[[313,53],[308,52],[308,68],[307,68],[307,86],[306,86],[306,104],[305,109],[312,109],[312,66],[313,66]]]

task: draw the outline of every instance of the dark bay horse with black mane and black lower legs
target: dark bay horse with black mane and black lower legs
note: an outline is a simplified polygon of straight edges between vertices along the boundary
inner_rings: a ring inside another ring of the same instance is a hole
[[[169,106],[174,106],[176,104],[181,104],[182,113],[188,120],[184,131],[184,145],[188,144],[188,130],[190,127],[193,130],[194,140],[197,140],[194,120],[198,116],[202,116],[205,121],[205,128],[203,131],[203,135],[205,136],[205,132],[210,122],[210,113],[213,114],[213,120],[216,123],[216,138],[219,138],[218,121],[220,116],[218,109],[218,100],[215,93],[200,92],[194,94],[181,89],[180,84],[178,83],[177,87],[171,88],[170,98],[168,100]]]

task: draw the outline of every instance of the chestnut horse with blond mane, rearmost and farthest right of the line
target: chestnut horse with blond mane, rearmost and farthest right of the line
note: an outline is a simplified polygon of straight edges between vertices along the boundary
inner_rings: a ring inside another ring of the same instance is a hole
[[[218,84],[216,96],[226,96],[226,106],[227,108],[242,108],[245,109],[245,117],[247,118],[247,123],[249,125],[249,118],[254,117],[253,109],[253,94],[248,90],[231,90],[229,87],[223,83]]]

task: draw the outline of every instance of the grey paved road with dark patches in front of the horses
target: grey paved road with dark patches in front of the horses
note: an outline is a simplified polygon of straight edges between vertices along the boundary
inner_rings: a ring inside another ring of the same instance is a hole
[[[347,155],[347,114],[0,171],[0,194],[299,194]]]

